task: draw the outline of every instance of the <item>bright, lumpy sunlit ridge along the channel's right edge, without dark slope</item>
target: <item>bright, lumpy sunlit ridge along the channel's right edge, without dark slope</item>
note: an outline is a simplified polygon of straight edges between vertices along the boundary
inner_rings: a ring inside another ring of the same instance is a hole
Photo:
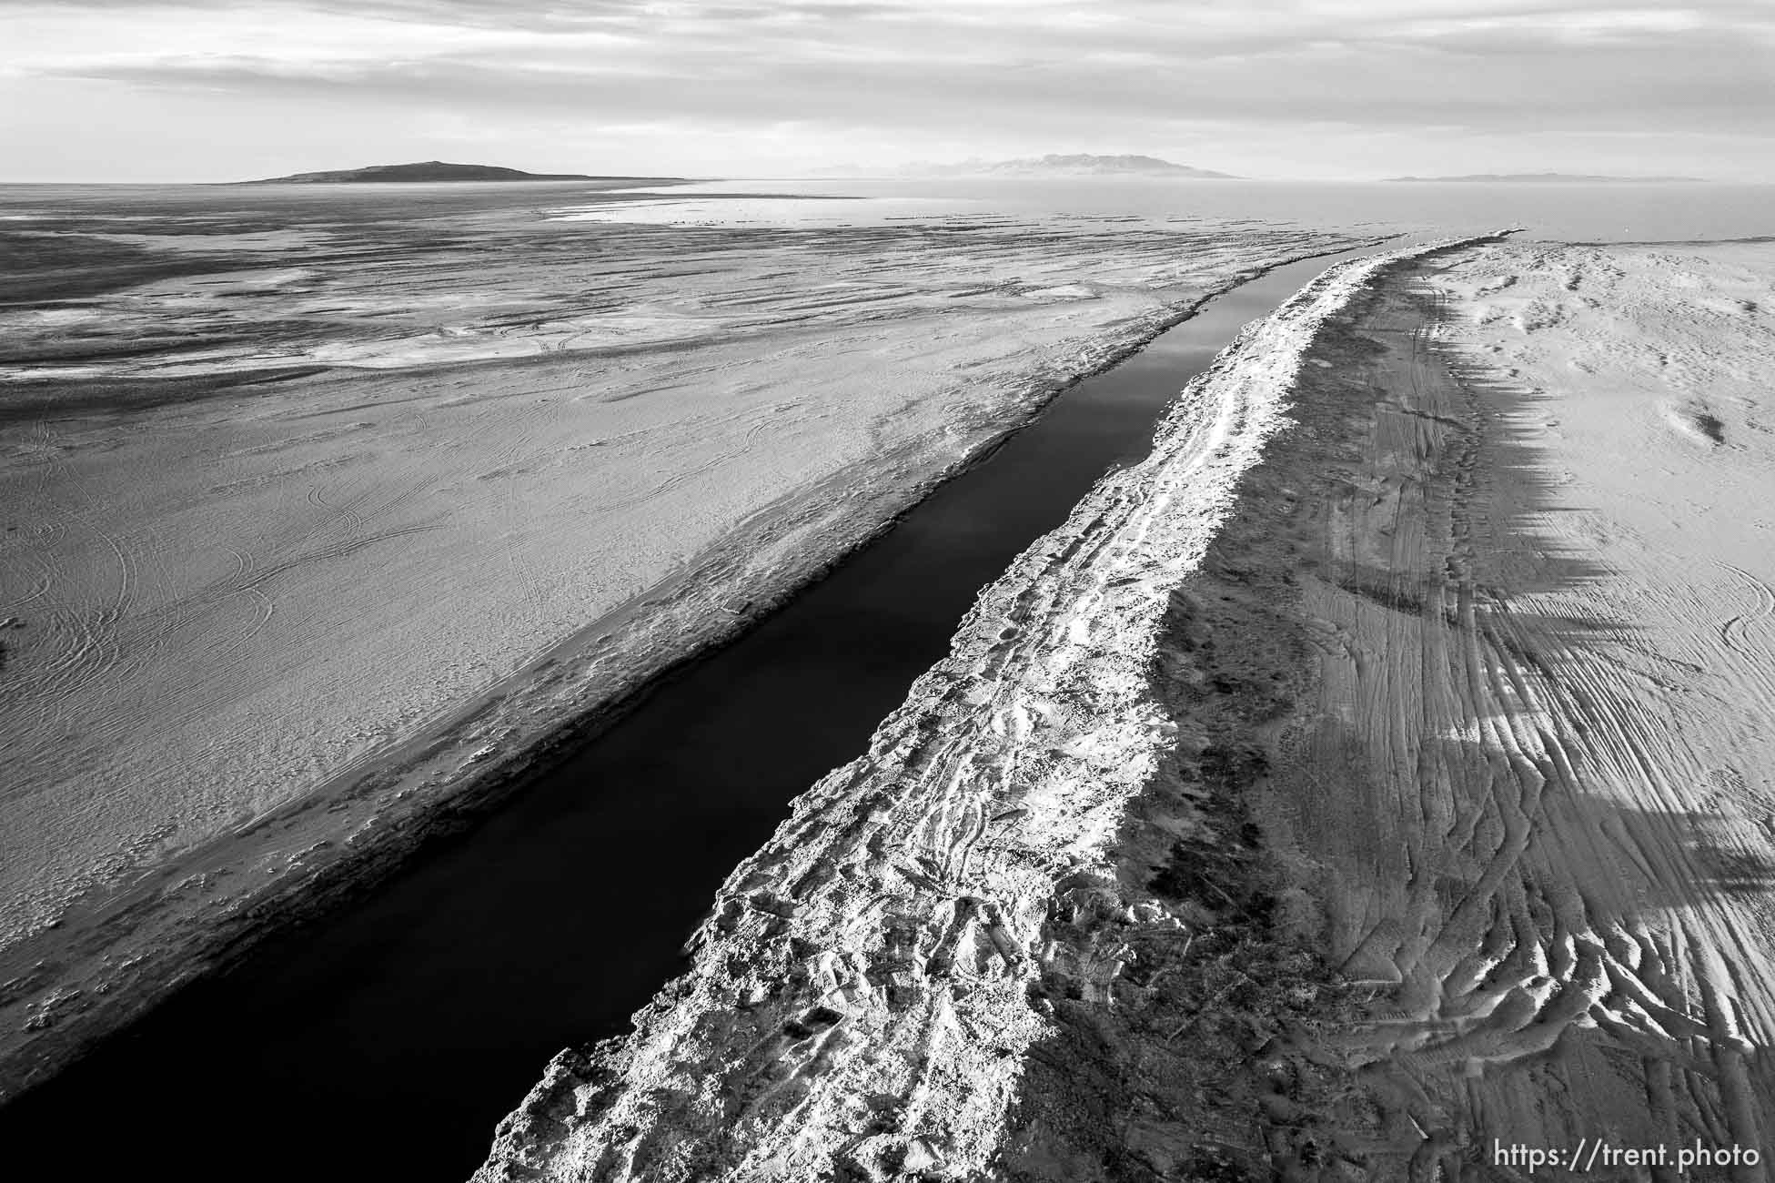
[[[635,1032],[548,1066],[476,1178],[983,1171],[1042,1037],[1044,917],[1113,883],[1109,835],[1172,728],[1141,689],[1156,613],[1282,426],[1317,327],[1369,275],[1447,249],[1337,266],[1248,325],[1154,455],[982,592],[870,755],[797,798]],[[870,1096],[916,1112],[875,1124]]]

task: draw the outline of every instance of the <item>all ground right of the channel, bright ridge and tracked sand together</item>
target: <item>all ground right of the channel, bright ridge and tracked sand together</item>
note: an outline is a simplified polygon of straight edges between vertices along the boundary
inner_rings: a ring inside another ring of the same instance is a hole
[[[477,1178],[1766,1179],[1771,282],[1310,288]]]

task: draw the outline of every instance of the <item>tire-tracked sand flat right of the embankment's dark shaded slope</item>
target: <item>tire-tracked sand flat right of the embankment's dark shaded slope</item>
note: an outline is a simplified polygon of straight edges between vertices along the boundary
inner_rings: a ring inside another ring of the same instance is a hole
[[[1370,322],[1393,398],[1271,792],[1376,991],[1344,1041],[1400,1171],[1775,1149],[1771,281],[1768,245],[1519,245]]]

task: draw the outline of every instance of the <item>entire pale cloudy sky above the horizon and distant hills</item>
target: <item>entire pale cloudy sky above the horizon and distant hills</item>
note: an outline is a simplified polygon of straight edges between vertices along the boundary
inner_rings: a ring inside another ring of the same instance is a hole
[[[1042,153],[1775,181],[1775,0],[0,0],[0,181]]]

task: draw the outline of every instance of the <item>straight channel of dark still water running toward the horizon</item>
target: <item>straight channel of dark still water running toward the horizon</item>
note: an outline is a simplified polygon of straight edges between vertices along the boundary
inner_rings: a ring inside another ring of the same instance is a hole
[[[0,1176],[467,1178],[554,1052],[625,1030],[678,973],[726,874],[866,748],[974,593],[1329,261],[1219,297],[1067,391],[474,830],[0,1108]]]

